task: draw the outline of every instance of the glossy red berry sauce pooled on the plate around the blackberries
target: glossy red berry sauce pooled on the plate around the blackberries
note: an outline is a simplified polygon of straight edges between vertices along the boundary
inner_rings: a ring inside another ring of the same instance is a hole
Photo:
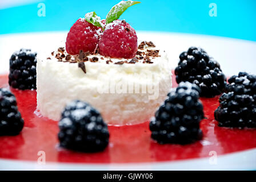
[[[0,76],[0,88],[7,87],[7,81],[6,75]],[[177,86],[175,77],[173,86]],[[214,97],[201,98],[207,117],[201,122],[204,137],[193,144],[158,144],[150,138],[149,122],[145,122],[133,126],[109,126],[110,143],[103,152],[83,154],[69,151],[58,147],[58,122],[34,113],[36,91],[11,89],[11,92],[17,97],[25,127],[17,136],[0,137],[0,158],[36,161],[38,151],[45,151],[48,162],[138,163],[203,158],[209,156],[210,151],[222,155],[256,147],[255,129],[218,127],[214,110],[219,105],[219,97]]]

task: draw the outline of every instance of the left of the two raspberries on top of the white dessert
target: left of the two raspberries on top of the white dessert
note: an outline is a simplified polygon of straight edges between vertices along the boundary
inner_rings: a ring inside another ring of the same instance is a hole
[[[78,55],[81,50],[93,53],[97,48],[101,33],[101,28],[94,26],[85,19],[78,19],[70,28],[69,34],[67,34],[67,53]]]

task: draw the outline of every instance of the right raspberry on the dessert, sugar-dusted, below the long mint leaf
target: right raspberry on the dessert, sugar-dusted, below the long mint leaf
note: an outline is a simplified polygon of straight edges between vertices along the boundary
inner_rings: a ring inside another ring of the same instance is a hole
[[[125,20],[107,24],[99,40],[99,53],[115,58],[133,58],[137,53],[137,35]]]

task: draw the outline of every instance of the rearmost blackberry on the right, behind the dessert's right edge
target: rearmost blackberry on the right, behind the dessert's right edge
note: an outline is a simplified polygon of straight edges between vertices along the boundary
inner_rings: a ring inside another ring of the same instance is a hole
[[[214,97],[223,92],[226,76],[217,61],[202,49],[190,47],[179,55],[175,68],[177,83],[189,81],[201,88],[201,97]]]

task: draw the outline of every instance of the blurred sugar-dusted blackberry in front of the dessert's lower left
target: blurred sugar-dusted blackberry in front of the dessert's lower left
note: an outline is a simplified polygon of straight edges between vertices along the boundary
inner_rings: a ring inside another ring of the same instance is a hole
[[[66,105],[59,121],[60,146],[75,151],[97,152],[109,143],[109,130],[101,114],[82,101]]]

